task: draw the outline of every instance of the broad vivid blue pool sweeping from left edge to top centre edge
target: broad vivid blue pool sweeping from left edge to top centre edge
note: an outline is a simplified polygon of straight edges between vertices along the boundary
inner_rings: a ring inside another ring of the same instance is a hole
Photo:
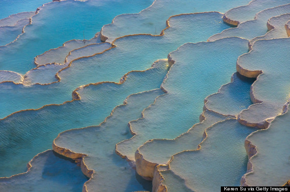
[[[33,23],[25,27],[25,33],[18,41],[0,48],[0,69],[25,73],[35,67],[34,57],[37,55],[72,39],[91,39],[114,16],[139,12],[152,2],[130,0],[112,4],[108,0],[68,0],[47,4],[32,17]]]

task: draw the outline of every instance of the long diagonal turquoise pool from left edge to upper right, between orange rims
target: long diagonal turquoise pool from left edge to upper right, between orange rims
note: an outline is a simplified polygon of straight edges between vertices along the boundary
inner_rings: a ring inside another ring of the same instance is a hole
[[[0,106],[5,109],[0,111],[0,117],[4,118],[21,109],[61,104],[71,100],[72,91],[85,84],[119,82],[128,71],[147,69],[154,61],[166,58],[170,51],[184,43],[206,41],[212,34],[228,28],[228,25],[222,23],[221,16],[220,13],[213,12],[173,17],[169,21],[171,27],[164,31],[164,36],[123,37],[114,43],[117,47],[103,54],[74,61],[71,67],[59,73],[60,83],[48,86],[0,84],[0,94],[3,95]],[[108,48],[107,44],[99,46]]]

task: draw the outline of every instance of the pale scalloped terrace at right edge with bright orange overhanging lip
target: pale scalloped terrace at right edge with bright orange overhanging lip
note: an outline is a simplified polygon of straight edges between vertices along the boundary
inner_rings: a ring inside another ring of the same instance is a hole
[[[263,71],[253,84],[252,93],[257,101],[263,103],[252,105],[240,114],[240,119],[252,123],[253,126],[265,125],[266,119],[273,119],[281,114],[284,104],[289,101],[289,78],[285,72],[289,70],[286,64],[289,59],[289,41],[288,38],[256,41],[252,50],[237,61],[239,66],[247,69],[243,72],[239,67],[244,75],[257,76],[260,70]]]

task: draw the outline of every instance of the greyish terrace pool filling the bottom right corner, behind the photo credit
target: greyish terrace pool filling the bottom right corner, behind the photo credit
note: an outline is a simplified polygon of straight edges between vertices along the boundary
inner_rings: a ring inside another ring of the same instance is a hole
[[[249,186],[282,186],[289,180],[289,155],[285,152],[290,146],[289,114],[286,112],[278,116],[269,129],[248,136],[247,139],[258,151],[251,159],[252,172],[245,175]],[[271,175],[276,176],[272,178]]]

